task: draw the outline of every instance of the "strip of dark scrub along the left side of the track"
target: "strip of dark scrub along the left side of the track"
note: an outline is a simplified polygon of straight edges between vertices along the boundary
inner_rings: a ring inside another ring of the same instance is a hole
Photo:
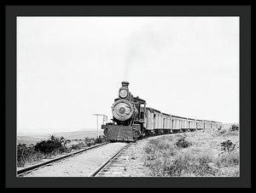
[[[101,144],[106,142],[105,136],[98,138],[85,138],[84,141],[70,144],[71,140],[56,138],[54,135],[50,136],[47,140],[39,141],[36,145],[17,145],[17,167],[25,167],[26,164],[38,162],[43,159],[52,158],[52,156],[69,153],[72,150],[80,150],[91,145]]]

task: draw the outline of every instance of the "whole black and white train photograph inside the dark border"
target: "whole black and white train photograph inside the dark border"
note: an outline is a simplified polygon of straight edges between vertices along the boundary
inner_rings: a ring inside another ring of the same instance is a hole
[[[17,177],[239,177],[239,21],[17,17]]]

